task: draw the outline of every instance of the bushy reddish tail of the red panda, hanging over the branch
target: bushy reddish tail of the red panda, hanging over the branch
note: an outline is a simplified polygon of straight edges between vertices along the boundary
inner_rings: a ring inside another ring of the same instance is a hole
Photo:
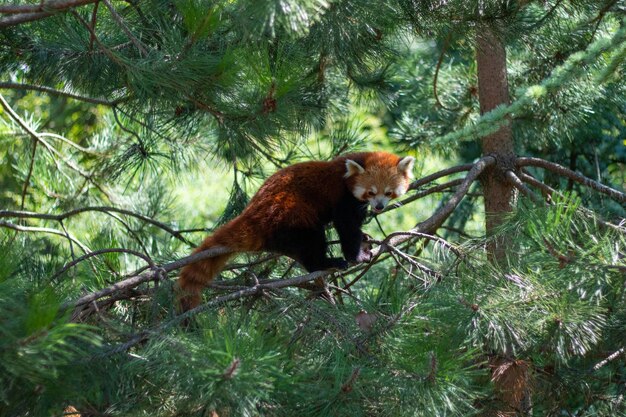
[[[204,239],[193,253],[215,246],[225,246],[233,252],[203,259],[182,269],[178,278],[178,304],[182,312],[200,304],[202,289],[220,273],[236,252],[260,250],[261,242],[254,231],[245,225],[245,221],[238,217]]]

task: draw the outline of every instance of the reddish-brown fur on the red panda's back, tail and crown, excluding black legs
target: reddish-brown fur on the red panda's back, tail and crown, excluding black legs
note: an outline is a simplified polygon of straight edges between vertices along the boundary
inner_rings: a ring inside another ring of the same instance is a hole
[[[371,178],[365,174],[344,178],[346,159],[364,167]],[[329,162],[304,162],[281,169],[266,180],[238,217],[218,228],[194,253],[217,245],[226,246],[233,252],[270,250],[267,239],[277,231],[330,222],[333,209],[359,181],[380,182],[382,177],[388,180],[390,176],[398,176],[399,160],[398,156],[386,152],[364,152],[344,155]],[[200,303],[202,288],[231,256],[221,255],[183,268],[179,279],[183,311]]]

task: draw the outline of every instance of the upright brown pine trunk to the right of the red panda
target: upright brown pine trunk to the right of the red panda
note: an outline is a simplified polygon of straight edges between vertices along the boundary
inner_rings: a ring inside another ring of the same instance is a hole
[[[506,74],[506,50],[501,39],[487,25],[477,32],[476,64],[480,113],[484,114],[499,105],[509,104],[509,83]],[[515,169],[513,132],[509,122],[497,132],[482,139],[483,155],[495,157],[495,166],[481,177],[485,200],[485,229],[488,237],[504,221],[512,209],[515,188],[506,179],[506,171]],[[489,239],[487,253],[494,261],[506,255],[507,239]]]

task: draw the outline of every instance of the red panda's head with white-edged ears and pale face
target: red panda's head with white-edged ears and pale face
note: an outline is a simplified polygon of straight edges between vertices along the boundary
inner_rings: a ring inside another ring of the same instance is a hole
[[[390,200],[404,194],[413,178],[415,158],[400,158],[386,152],[365,154],[363,162],[346,159],[345,178],[352,194],[367,201],[374,213],[380,213]]]

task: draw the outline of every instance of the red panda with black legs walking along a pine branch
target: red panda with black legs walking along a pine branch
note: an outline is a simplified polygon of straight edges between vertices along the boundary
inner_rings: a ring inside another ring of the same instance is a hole
[[[270,176],[236,218],[207,237],[194,253],[225,246],[233,253],[187,265],[178,280],[182,311],[200,303],[202,289],[236,252],[268,251],[289,256],[307,271],[344,269],[370,260],[361,226],[367,206],[378,213],[404,194],[415,158],[361,152],[332,161],[291,165]],[[324,226],[332,222],[345,257],[329,258]]]

